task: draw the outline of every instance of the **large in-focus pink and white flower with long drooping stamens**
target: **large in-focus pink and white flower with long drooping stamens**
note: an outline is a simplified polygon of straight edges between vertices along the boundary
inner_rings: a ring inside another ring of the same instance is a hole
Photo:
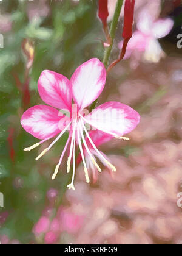
[[[120,102],[107,102],[99,107],[95,108],[92,113],[84,115],[84,108],[92,104],[95,99],[103,91],[106,83],[106,69],[103,63],[98,59],[90,59],[87,62],[79,66],[73,73],[71,79],[67,79],[61,74],[53,71],[45,70],[41,73],[38,80],[38,91],[42,100],[52,107],[47,105],[36,105],[35,107],[29,108],[21,118],[21,124],[24,129],[32,134],[34,137],[39,138],[41,141],[35,145],[25,148],[25,151],[30,151],[33,148],[39,146],[44,141],[49,140],[55,135],[58,137],[46,148],[37,158],[42,157],[50,148],[62,137],[62,135],[69,130],[69,137],[66,145],[62,151],[58,165],[56,166],[55,173],[52,179],[55,179],[58,174],[59,166],[61,165],[62,158],[66,152],[66,149],[70,143],[69,157],[67,160],[67,173],[70,172],[70,163],[73,159],[73,176],[72,182],[67,186],[69,189],[75,190],[73,185],[75,177],[75,146],[78,144],[81,157],[84,165],[84,172],[86,175],[86,181],[89,183],[89,174],[87,170],[86,160],[84,158],[83,141],[84,147],[86,148],[87,154],[89,154],[93,165],[99,168],[98,164],[93,157],[92,152],[87,146],[87,142],[84,138],[84,132],[89,143],[95,152],[101,157],[109,166],[112,171],[116,171],[113,166],[104,157],[101,152],[96,148],[92,138],[86,129],[86,124],[94,127],[96,130],[107,133],[111,137],[121,138],[127,140],[128,138],[123,137],[124,134],[131,132],[140,121],[140,115],[127,105],[121,104]],[[75,102],[74,108],[72,108],[72,99]],[[59,110],[56,108],[66,110],[70,116],[60,115]]]

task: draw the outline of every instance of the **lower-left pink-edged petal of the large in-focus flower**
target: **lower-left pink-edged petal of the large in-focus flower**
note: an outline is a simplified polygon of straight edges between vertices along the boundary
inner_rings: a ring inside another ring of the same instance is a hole
[[[61,119],[62,116],[59,116],[59,111],[55,108],[36,105],[25,111],[21,118],[21,125],[26,132],[44,140],[45,138],[52,138],[61,132],[59,129],[59,121]]]

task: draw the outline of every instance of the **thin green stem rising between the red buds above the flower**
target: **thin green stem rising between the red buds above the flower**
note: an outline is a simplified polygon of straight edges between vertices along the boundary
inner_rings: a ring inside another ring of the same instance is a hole
[[[107,47],[105,52],[104,52],[103,63],[104,63],[105,67],[107,67],[107,63],[109,61],[110,53],[112,51],[113,40],[115,38],[116,29],[117,29],[117,26],[118,26],[118,19],[120,17],[123,1],[124,0],[118,0],[117,4],[116,4],[115,13],[114,13],[112,24],[111,24],[111,27],[110,27],[110,37],[111,37],[112,42],[111,42],[110,46]]]

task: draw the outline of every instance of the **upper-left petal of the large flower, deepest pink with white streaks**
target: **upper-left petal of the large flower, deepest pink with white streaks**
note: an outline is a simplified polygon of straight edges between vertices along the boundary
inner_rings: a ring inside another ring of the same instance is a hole
[[[38,91],[42,101],[64,110],[72,107],[72,85],[65,76],[44,70],[38,80]]]

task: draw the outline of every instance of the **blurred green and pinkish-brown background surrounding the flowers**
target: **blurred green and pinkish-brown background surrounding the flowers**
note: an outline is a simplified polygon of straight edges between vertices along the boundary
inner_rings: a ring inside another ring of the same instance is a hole
[[[1,243],[182,243],[182,203],[177,202],[182,191],[181,1],[136,0],[135,18],[145,6],[156,19],[170,16],[174,27],[159,40],[166,52],[160,62],[134,56],[107,77],[98,104],[120,101],[141,115],[130,141],[100,147],[116,173],[103,168],[97,182],[88,185],[78,166],[76,190],[70,191],[66,160],[51,180],[67,135],[39,162],[35,157],[46,143],[23,151],[38,142],[22,129],[20,119],[24,110],[42,104],[37,90],[41,71],[70,77],[86,60],[103,59],[97,2],[0,1]],[[115,3],[109,0],[109,21]],[[122,13],[110,62],[122,39]]]

